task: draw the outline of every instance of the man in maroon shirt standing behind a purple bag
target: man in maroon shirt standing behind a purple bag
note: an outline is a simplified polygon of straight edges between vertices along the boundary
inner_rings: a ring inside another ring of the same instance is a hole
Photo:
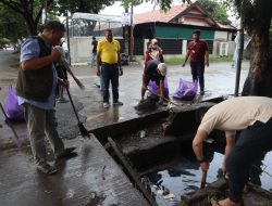
[[[188,57],[190,57],[190,69],[193,81],[198,81],[200,94],[205,94],[205,65],[209,66],[209,50],[206,41],[200,40],[200,30],[193,33],[194,41],[188,43],[187,53],[183,66],[185,66]]]

